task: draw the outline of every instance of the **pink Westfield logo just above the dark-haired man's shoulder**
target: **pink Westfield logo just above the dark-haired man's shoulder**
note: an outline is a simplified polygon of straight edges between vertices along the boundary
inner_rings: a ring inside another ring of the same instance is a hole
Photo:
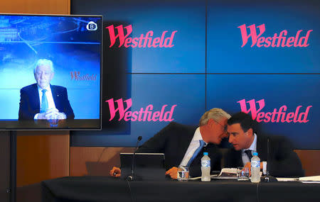
[[[274,110],[270,112],[262,112],[262,108],[265,107],[265,99],[262,99],[260,101],[255,101],[255,99],[245,101],[245,99],[242,99],[237,103],[240,103],[240,108],[242,112],[251,112],[253,120],[257,118],[257,122],[264,121],[265,123],[306,123],[309,121],[307,119],[308,113],[310,108],[312,107],[307,106],[304,109],[302,106],[297,106],[294,112],[289,112],[287,111],[287,106],[284,105],[281,106],[279,109],[274,108]],[[249,104],[249,108],[247,108],[247,103]],[[258,108],[256,106],[256,103],[259,106]]]

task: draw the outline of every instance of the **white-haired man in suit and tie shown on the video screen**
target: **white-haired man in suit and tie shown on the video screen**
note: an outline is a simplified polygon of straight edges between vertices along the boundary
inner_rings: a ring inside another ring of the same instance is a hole
[[[46,59],[38,60],[33,74],[36,84],[25,86],[20,91],[18,119],[75,118],[67,89],[50,84],[54,76],[53,62]]]

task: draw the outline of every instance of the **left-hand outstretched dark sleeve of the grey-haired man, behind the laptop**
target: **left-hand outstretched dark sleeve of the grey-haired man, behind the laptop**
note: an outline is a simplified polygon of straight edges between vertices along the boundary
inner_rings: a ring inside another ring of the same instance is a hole
[[[137,150],[138,153],[164,153],[166,137],[171,134],[170,130],[174,123],[169,123],[165,128],[156,133],[154,137],[150,138]],[[172,151],[174,152],[174,151]]]

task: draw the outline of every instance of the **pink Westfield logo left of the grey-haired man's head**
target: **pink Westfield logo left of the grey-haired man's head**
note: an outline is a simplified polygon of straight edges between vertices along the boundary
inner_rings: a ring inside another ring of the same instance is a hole
[[[114,101],[113,99],[109,99],[106,101],[109,104],[110,109],[110,120],[114,118],[116,113],[119,113],[119,119],[122,120],[122,118],[125,121],[172,121],[174,118],[172,118],[174,114],[174,108],[176,107],[176,104],[174,106],[171,106],[171,109],[169,111],[166,111],[166,106],[164,105],[161,107],[160,111],[153,111],[154,106],[149,104],[145,108],[140,108],[139,111],[129,111],[129,108],[132,107],[132,99],[127,99],[123,101],[122,99],[118,99]],[[114,107],[114,103],[117,103],[118,108]],[[126,103],[127,107],[124,107],[124,103]],[[168,108],[167,108],[168,109]]]

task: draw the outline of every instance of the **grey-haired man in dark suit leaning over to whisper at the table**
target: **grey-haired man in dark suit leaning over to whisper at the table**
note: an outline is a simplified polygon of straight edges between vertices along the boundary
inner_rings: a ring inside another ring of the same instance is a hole
[[[201,176],[201,157],[208,152],[211,170],[220,170],[221,154],[216,145],[226,136],[230,115],[220,108],[203,114],[199,127],[171,122],[139,147],[137,152],[164,153],[166,174],[177,178],[178,166],[189,167],[191,176]],[[121,169],[113,167],[111,176],[119,177]]]

